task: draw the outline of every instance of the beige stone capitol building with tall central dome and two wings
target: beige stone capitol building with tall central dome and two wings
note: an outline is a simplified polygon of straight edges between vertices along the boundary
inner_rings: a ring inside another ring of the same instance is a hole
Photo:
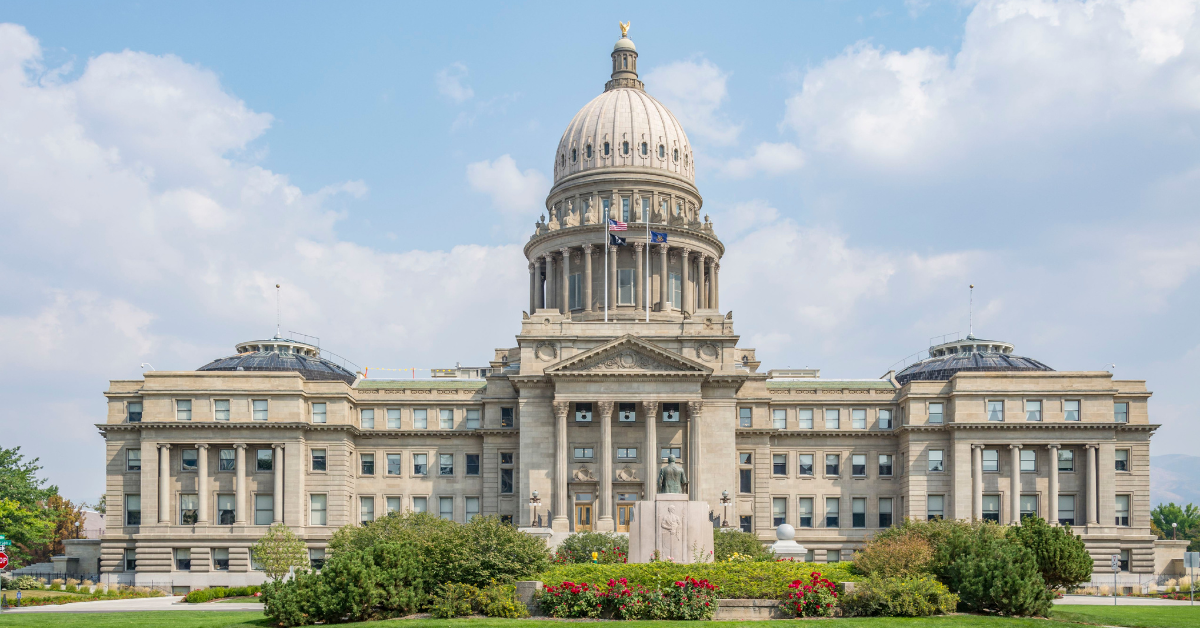
[[[248,549],[270,525],[319,566],[338,527],[394,512],[498,515],[552,543],[624,532],[668,456],[714,527],[772,542],[790,524],[816,562],[906,518],[1037,515],[1082,536],[1098,578],[1112,555],[1160,573],[1145,382],[971,335],[880,378],[763,372],[722,309],[688,134],[628,36],[611,59],[547,155],[528,311],[486,366],[370,378],[276,335],[110,382],[106,580],[259,582]]]

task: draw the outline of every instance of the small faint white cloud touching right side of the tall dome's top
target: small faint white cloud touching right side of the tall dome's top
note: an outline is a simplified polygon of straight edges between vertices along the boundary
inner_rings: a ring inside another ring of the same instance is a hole
[[[727,91],[730,74],[712,61],[676,61],[646,74],[647,91],[662,101],[679,119],[689,134],[714,144],[733,144],[740,125],[726,120],[719,110]]]

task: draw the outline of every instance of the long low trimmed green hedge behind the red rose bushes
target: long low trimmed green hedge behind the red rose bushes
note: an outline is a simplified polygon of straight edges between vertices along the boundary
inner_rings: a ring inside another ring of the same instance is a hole
[[[678,580],[691,576],[708,580],[720,587],[716,597],[724,599],[785,599],[787,585],[793,580],[808,580],[809,574],[820,572],[834,582],[860,580],[851,572],[850,563],[798,563],[798,562],[726,562],[678,564],[668,562],[630,564],[564,564],[553,567],[538,576],[546,585],[564,581],[602,585],[610,579],[624,578],[629,586],[665,588]]]

